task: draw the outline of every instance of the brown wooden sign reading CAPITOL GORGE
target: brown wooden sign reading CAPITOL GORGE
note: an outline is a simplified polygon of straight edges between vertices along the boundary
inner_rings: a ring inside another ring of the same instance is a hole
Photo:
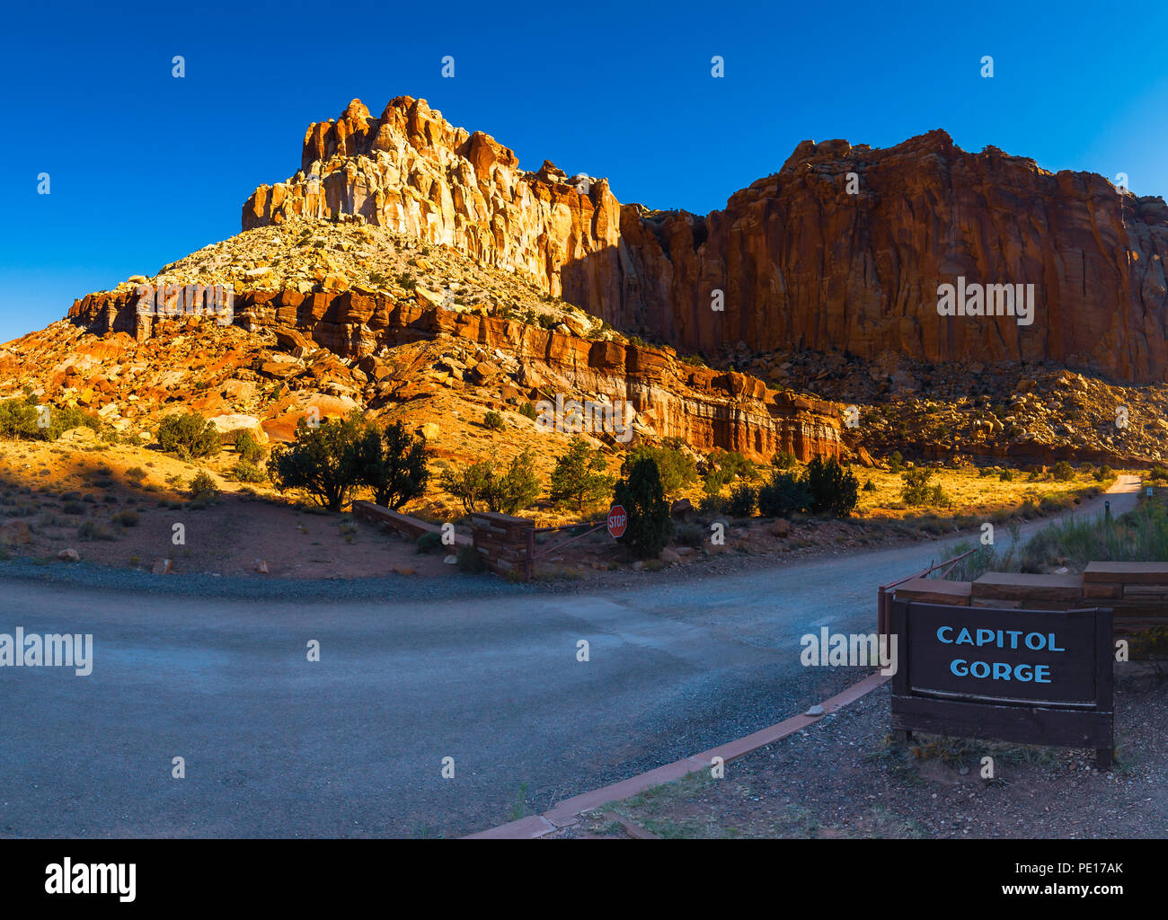
[[[894,600],[892,729],[1091,747],[1110,767],[1112,613]]]

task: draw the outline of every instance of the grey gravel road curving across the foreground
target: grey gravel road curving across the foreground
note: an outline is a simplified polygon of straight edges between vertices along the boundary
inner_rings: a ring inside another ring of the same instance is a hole
[[[1114,488],[1120,513],[1136,485]],[[91,633],[95,651],[89,676],[0,668],[0,835],[481,830],[839,691],[858,675],[804,668],[799,637],[870,632],[877,585],[940,549],[646,573],[586,594],[5,563],[0,633]]]

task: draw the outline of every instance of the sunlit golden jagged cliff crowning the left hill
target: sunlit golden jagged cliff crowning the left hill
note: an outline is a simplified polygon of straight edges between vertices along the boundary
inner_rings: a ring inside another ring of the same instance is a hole
[[[300,172],[257,188],[243,229],[290,217],[359,219],[453,246],[555,297],[571,264],[583,300],[619,297],[620,203],[607,180],[569,179],[547,161],[523,172],[510,149],[450,125],[425,99],[399,96],[380,118],[354,99],[335,121],[311,125]]]

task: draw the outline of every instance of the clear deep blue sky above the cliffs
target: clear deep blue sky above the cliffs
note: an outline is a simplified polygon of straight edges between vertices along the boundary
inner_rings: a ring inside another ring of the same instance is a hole
[[[354,97],[375,114],[426,98],[524,168],[609,176],[654,208],[719,208],[805,138],[888,146],[936,127],[1168,194],[1164,6],[874,7],[11,5],[0,341],[238,232],[251,190],[299,168],[308,123]]]

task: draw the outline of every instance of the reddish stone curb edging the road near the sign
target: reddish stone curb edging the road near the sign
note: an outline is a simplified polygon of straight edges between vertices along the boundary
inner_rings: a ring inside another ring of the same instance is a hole
[[[855,703],[861,697],[870,694],[877,686],[887,683],[891,675],[883,675],[880,671],[868,675],[868,677],[853,684],[847,690],[836,694],[830,699],[823,701],[823,712],[819,716],[792,716],[790,719],[784,719],[777,725],[771,725],[767,729],[757,731],[753,734],[748,734],[745,738],[739,738],[736,741],[729,741],[728,744],[719,745],[718,747],[711,747],[709,751],[703,751],[700,754],[693,754],[691,757],[676,760],[673,764],[666,764],[662,767],[651,769],[648,773],[642,773],[639,776],[621,780],[620,782],[614,782],[611,786],[604,786],[599,789],[595,789],[593,792],[565,799],[550,811],[544,811],[542,815],[531,815],[530,817],[524,817],[519,821],[512,821],[508,824],[501,824],[498,828],[482,830],[478,834],[470,834],[463,837],[463,839],[531,841],[548,834],[554,834],[561,828],[568,828],[575,824],[579,820],[579,815],[584,811],[593,811],[597,808],[609,804],[610,802],[617,802],[621,799],[627,799],[631,795],[645,792],[645,789],[653,786],[673,782],[674,780],[680,780],[682,776],[690,773],[705,769],[710,766],[710,761],[715,757],[722,758],[723,761],[734,760],[735,758],[757,751],[760,747],[765,747],[769,744],[779,741],[788,734],[794,734],[795,732],[806,729],[808,725],[814,725],[816,722],[822,719],[823,716],[843,709],[849,703]]]

